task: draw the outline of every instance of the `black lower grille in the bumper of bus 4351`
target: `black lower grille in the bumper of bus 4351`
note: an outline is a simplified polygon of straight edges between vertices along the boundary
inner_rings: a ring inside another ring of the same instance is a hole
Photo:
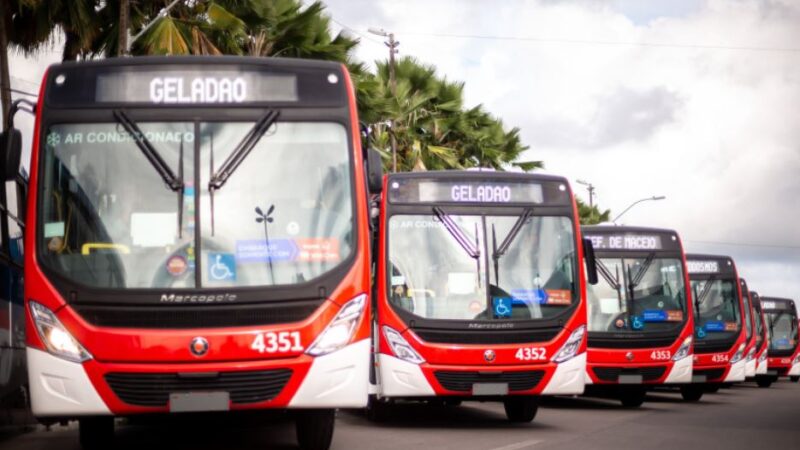
[[[272,400],[283,390],[291,376],[290,369],[276,369],[219,372],[212,377],[182,376],[177,373],[108,373],[105,378],[111,390],[123,402],[162,407],[167,406],[170,394],[192,391],[228,392],[232,403]]]

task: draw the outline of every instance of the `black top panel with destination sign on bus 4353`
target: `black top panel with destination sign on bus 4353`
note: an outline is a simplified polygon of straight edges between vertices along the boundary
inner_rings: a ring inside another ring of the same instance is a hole
[[[597,252],[670,251],[680,252],[675,230],[636,226],[584,225],[583,237],[592,240]]]

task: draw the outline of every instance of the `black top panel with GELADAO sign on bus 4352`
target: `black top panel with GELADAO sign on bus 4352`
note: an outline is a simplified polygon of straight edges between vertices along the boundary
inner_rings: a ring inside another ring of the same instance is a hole
[[[569,182],[544,174],[439,170],[392,173],[388,200],[400,204],[538,205],[572,208]]]

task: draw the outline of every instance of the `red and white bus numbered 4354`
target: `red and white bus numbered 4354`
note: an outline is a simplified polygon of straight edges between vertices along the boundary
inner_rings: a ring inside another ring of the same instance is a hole
[[[744,302],[736,265],[728,256],[687,254],[694,308],[694,368],[684,397],[721,383],[744,381]]]

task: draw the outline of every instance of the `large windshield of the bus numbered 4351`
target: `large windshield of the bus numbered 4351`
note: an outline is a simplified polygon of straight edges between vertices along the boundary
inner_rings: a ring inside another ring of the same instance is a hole
[[[42,264],[103,288],[291,285],[331,270],[354,247],[345,127],[276,123],[211,192],[254,123],[136,124],[177,178],[172,186],[120,124],[50,127]]]

